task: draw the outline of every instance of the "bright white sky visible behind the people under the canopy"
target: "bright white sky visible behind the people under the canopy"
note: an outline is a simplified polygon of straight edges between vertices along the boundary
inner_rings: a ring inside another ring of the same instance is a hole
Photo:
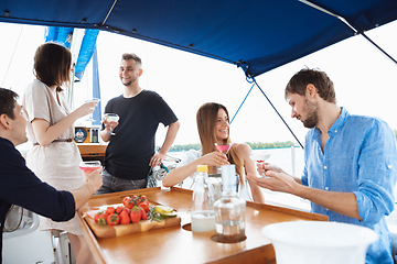
[[[33,55],[44,42],[44,28],[0,23],[0,33],[7,36],[0,44],[0,85],[22,95],[34,79]],[[397,59],[396,21],[366,34]],[[100,32],[97,48],[101,108],[109,99],[122,94],[118,76],[121,54],[136,53],[143,64],[140,86],[157,91],[181,122],[174,144],[200,143],[195,113],[201,105],[219,102],[228,109],[232,118],[251,88],[244,72],[235,65],[158,44]],[[89,97],[90,67],[87,67],[82,82],[75,86],[76,107]],[[300,142],[304,141],[308,130],[300,121],[290,118],[291,108],[283,98],[283,89],[303,67],[319,68],[329,75],[335,86],[339,106],[351,113],[378,117],[397,130],[397,65],[358,35],[256,77]],[[86,124],[84,120],[77,120],[76,125]],[[165,132],[167,129],[160,124],[157,145],[162,144]],[[257,87],[253,88],[233,121],[230,138],[233,142],[292,141],[298,144]]]

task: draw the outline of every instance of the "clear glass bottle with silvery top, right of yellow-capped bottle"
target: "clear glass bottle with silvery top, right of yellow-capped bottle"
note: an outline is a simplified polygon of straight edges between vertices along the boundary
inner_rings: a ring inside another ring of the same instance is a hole
[[[245,240],[246,201],[237,197],[235,165],[222,166],[222,198],[214,204],[217,242]]]

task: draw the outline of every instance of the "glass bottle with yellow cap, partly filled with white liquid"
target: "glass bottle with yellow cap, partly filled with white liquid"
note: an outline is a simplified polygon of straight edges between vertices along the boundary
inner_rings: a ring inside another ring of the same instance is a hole
[[[198,165],[191,208],[193,232],[215,230],[214,202],[215,193],[208,179],[208,167]]]

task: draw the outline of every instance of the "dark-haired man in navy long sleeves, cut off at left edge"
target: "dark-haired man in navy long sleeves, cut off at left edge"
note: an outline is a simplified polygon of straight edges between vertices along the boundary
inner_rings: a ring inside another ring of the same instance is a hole
[[[17,103],[18,95],[0,88],[0,263],[2,230],[12,205],[18,205],[54,221],[72,219],[76,209],[88,201],[101,186],[101,168],[84,173],[84,185],[75,190],[56,190],[41,182],[15,148],[28,141],[24,110]]]

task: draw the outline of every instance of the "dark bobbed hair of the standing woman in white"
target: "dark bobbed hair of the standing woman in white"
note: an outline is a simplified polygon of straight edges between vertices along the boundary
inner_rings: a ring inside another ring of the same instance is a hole
[[[34,75],[49,87],[71,86],[72,53],[56,43],[44,43],[34,54]]]

